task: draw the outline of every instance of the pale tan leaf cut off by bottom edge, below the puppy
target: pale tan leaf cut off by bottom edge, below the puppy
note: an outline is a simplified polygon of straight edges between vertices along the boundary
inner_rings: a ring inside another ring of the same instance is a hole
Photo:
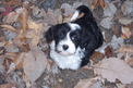
[[[90,88],[92,85],[94,85],[98,79],[99,76],[88,79],[80,79],[80,81],[75,85],[74,88]]]

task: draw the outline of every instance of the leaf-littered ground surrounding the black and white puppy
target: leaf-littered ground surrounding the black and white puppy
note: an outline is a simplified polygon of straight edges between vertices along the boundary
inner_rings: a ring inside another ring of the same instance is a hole
[[[45,33],[69,22],[82,4],[92,10],[105,42],[89,65],[60,70]],[[133,1],[1,0],[0,88],[133,88]]]

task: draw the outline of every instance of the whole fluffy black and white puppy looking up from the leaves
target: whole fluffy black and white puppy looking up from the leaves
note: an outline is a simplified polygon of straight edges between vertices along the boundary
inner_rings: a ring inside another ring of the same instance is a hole
[[[89,62],[89,56],[104,42],[104,37],[90,10],[81,5],[71,21],[84,12],[84,16],[74,22],[58,24],[47,32],[50,56],[60,68],[77,70]]]

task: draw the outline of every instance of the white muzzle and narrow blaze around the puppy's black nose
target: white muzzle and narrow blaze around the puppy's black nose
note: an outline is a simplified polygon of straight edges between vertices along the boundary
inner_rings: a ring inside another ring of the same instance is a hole
[[[63,46],[68,46],[69,48],[66,50],[63,49]],[[72,55],[75,53],[75,45],[70,38],[70,33],[66,34],[66,38],[61,40],[58,46],[57,50],[61,55]]]

